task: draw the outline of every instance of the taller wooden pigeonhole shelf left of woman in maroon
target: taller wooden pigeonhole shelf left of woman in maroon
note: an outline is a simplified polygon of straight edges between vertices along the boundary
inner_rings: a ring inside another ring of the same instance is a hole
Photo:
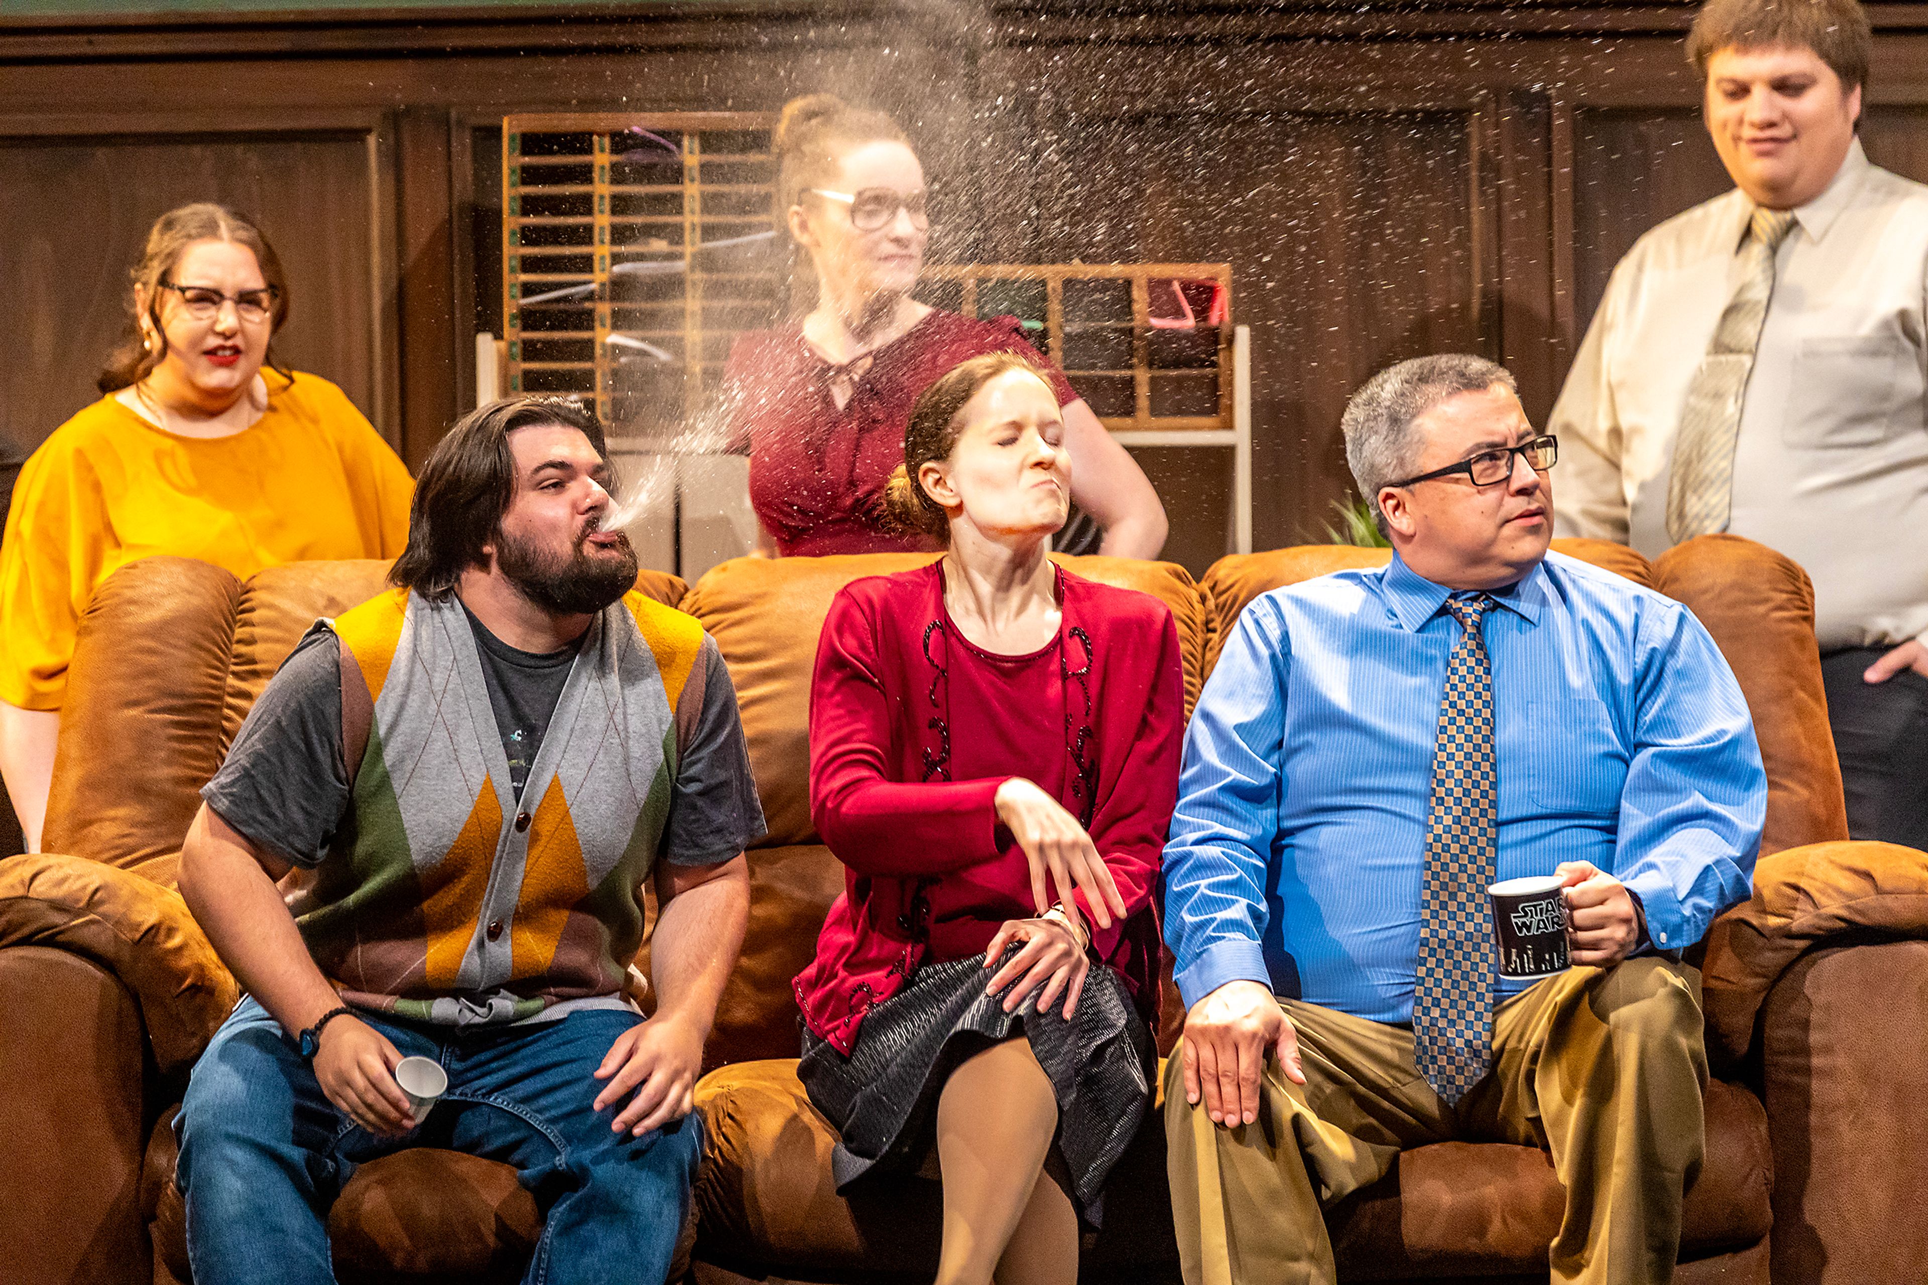
[[[594,399],[625,435],[673,433],[704,406],[729,341],[777,310],[765,245],[777,231],[775,121],[771,112],[503,118],[509,393]],[[733,245],[706,249],[719,241]],[[665,268],[638,270],[646,264]]]

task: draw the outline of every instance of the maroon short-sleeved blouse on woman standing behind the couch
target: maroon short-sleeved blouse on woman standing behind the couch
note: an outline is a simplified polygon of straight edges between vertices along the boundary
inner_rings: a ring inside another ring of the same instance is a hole
[[[846,366],[817,356],[802,326],[740,335],[723,370],[731,449],[750,453],[750,505],[777,541],[777,553],[935,549],[931,539],[885,524],[883,484],[904,462],[904,426],[918,395],[958,362],[985,353],[1035,358],[1058,405],[1078,401],[1062,372],[1026,343],[1012,316],[977,322],[933,308]],[[843,410],[831,397],[839,374],[856,378]]]

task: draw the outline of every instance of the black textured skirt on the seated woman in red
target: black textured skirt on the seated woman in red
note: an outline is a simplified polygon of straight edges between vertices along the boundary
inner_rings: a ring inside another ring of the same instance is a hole
[[[871,1171],[916,1173],[935,1144],[937,1094],[951,1071],[991,1044],[1024,1036],[1057,1090],[1057,1148],[1084,1219],[1097,1227],[1105,1177],[1151,1114],[1151,1031],[1124,981],[1103,965],[1085,977],[1070,1021],[1062,994],[1049,1013],[1039,1015],[1031,998],[1006,1013],[1003,996],[983,992],[987,977],[981,957],[920,967],[866,1013],[848,1058],[804,1029],[796,1073],[843,1135],[833,1156],[837,1191]]]

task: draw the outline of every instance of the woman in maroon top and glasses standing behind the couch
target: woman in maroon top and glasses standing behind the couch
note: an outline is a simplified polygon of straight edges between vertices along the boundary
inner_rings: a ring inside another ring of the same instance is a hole
[[[742,335],[725,368],[735,449],[750,453],[763,547],[790,555],[937,549],[889,522],[883,489],[902,457],[910,405],[981,353],[1037,353],[1014,318],[977,322],[910,297],[929,237],[924,168],[881,112],[831,94],[796,98],[775,139],[777,208],[810,256],[819,299],[800,326]],[[1105,528],[1103,553],[1157,557],[1165,509],[1138,462],[1064,376],[1072,499]]]

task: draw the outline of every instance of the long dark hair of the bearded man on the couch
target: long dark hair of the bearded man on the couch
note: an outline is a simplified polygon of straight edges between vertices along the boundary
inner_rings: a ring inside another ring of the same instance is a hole
[[[515,453],[509,433],[538,424],[580,430],[596,455],[607,457],[602,420],[567,397],[505,397],[476,406],[436,443],[415,480],[409,507],[409,547],[388,582],[440,599],[455,591],[463,572],[484,563],[482,545],[495,539],[515,499]]]

